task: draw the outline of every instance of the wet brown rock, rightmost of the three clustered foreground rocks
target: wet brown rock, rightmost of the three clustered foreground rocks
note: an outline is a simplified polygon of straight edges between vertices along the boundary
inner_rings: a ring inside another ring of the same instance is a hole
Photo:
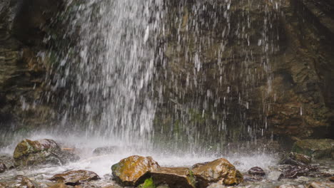
[[[196,187],[208,187],[212,183],[233,185],[243,182],[241,172],[223,158],[198,165],[192,172],[197,181]]]

